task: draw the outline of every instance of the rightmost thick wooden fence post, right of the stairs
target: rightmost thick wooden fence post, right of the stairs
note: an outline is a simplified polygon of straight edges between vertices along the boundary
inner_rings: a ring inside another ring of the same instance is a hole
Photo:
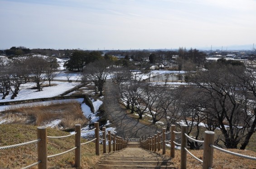
[[[214,145],[214,132],[204,132],[204,145],[203,145],[203,169],[213,168],[213,147]]]

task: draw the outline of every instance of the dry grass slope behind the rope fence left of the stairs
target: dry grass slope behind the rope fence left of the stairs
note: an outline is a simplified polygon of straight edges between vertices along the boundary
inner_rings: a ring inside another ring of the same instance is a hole
[[[0,146],[7,146],[28,142],[37,138],[36,126],[16,124],[0,125]],[[64,136],[68,132],[61,132],[48,128],[48,136]],[[87,142],[82,139],[81,142]],[[48,139],[48,155],[67,151],[74,146],[74,136],[62,139]],[[95,155],[95,144],[82,146],[82,168],[97,169],[97,161],[101,156]],[[101,147],[102,153],[102,147]],[[0,169],[20,169],[37,161],[36,144],[21,146],[8,150],[0,150]],[[48,159],[48,169],[74,169],[74,151]],[[32,169],[37,169],[37,166]]]

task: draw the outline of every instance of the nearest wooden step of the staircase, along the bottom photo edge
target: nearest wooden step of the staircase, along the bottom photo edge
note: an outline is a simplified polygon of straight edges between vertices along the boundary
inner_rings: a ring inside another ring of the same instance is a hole
[[[175,169],[175,167],[172,165],[155,166],[155,165],[99,164],[99,169]]]

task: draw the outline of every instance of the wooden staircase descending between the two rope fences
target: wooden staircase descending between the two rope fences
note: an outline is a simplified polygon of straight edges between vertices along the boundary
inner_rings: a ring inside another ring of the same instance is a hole
[[[100,169],[175,169],[167,156],[139,148],[139,142],[128,142],[127,148],[106,154]]]

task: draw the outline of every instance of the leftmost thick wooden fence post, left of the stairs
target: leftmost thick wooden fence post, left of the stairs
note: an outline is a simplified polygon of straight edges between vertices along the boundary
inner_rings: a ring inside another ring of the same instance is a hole
[[[37,138],[41,139],[37,143],[38,160],[41,161],[38,164],[38,169],[47,169],[47,128],[45,126],[37,127]]]

